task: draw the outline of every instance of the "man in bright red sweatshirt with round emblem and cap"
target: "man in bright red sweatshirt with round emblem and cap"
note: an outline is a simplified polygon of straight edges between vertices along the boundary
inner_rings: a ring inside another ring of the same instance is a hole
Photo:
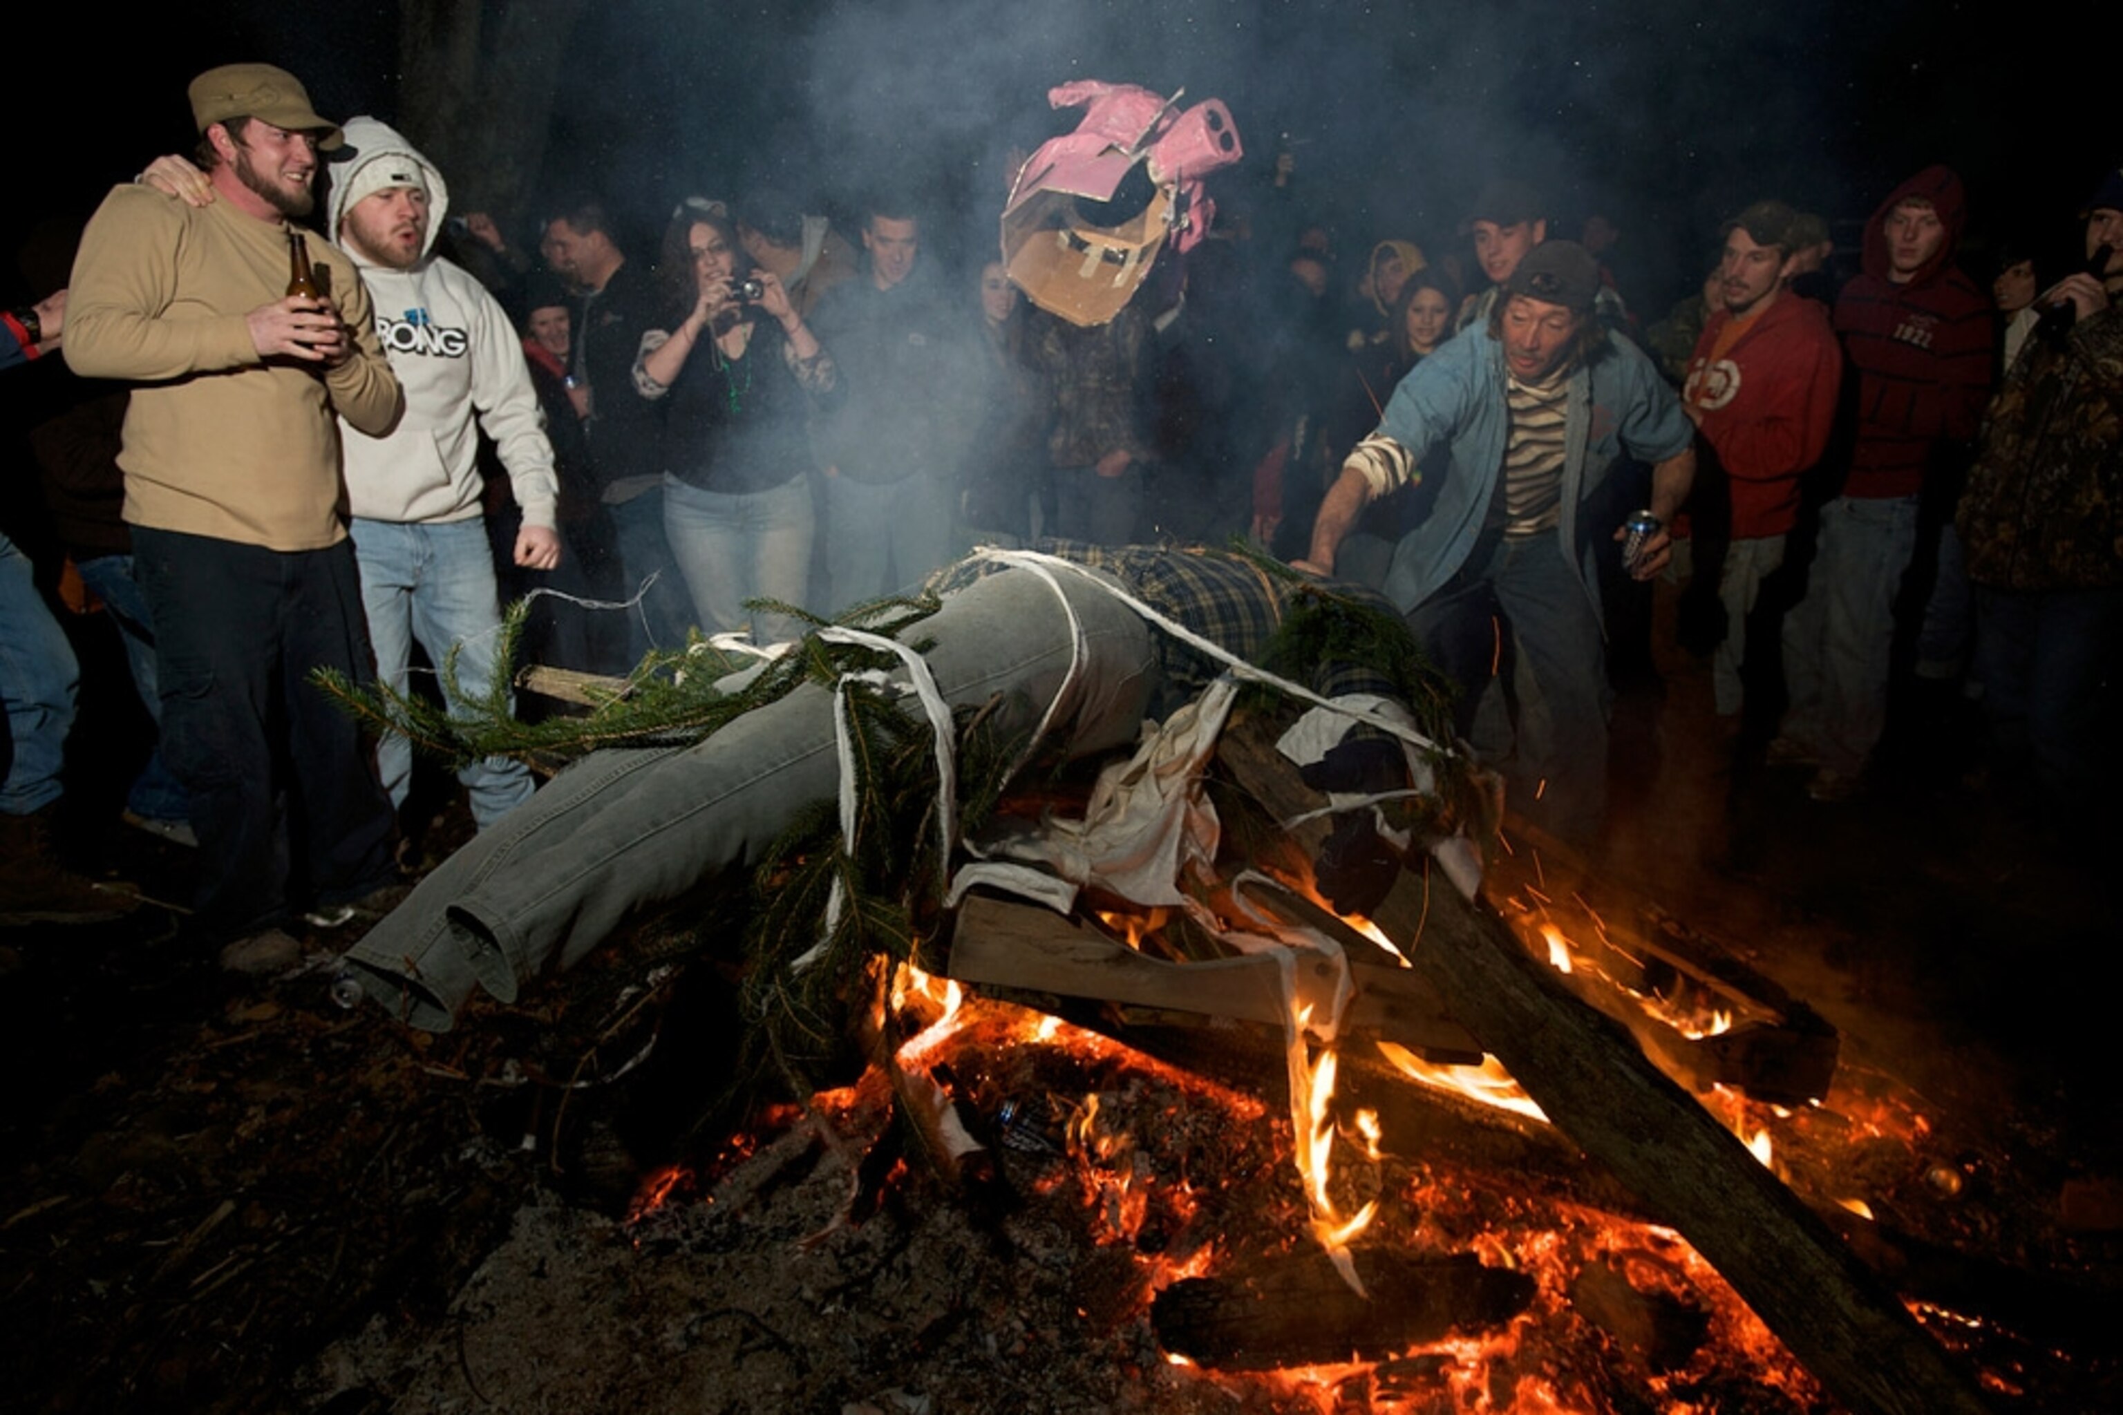
[[[1800,257],[1800,214],[1756,202],[1726,223],[1718,267],[1722,308],[1703,325],[1681,412],[1696,424],[1696,475],[1724,475],[1730,545],[1718,573],[1726,636],[1711,658],[1718,715],[1741,709],[1747,615],[1762,579],[1783,564],[1798,520],[1798,477],[1822,460],[1836,420],[1843,350],[1828,312],[1785,293]]]

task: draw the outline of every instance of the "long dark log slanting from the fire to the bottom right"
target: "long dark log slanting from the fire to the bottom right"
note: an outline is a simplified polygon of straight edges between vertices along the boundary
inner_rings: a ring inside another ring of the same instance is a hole
[[[1272,747],[1227,745],[1219,759],[1272,808],[1318,800]],[[1822,1385],[1860,1415],[1985,1409],[1896,1294],[1620,1023],[1565,989],[1492,908],[1431,878],[1403,872],[1374,921],[1556,1129],[1677,1228]]]

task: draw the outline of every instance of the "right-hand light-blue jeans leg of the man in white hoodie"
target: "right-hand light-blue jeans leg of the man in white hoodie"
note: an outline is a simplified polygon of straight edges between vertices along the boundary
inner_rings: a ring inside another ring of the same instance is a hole
[[[429,662],[444,668],[456,653],[452,675],[442,675],[442,696],[450,713],[471,715],[467,696],[488,698],[495,692],[495,662],[501,647],[501,609],[495,588],[495,556],[480,518],[412,526],[427,554],[412,594],[412,632],[427,649]],[[514,711],[516,696],[501,689],[503,711]],[[480,829],[531,800],[537,783],[531,768],[510,757],[486,757],[459,768],[456,779],[471,800],[471,819]]]

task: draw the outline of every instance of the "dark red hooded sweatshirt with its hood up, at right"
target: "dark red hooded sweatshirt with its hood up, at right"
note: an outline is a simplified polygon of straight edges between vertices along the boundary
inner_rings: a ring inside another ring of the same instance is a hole
[[[1906,282],[1887,278],[1887,212],[1926,197],[1947,227],[1938,252]],[[1968,199],[1951,168],[1926,168],[1881,202],[1864,227],[1864,274],[1836,299],[1836,333],[1858,371],[1845,496],[1909,496],[1940,439],[1977,435],[1989,399],[1991,305],[1953,265]]]

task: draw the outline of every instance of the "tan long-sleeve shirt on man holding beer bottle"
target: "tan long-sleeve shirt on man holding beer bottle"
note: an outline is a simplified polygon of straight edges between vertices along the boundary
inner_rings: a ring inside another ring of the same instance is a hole
[[[125,412],[125,520],[267,549],[346,537],[340,429],[382,435],[401,395],[352,263],[304,231],[355,352],[323,378],[267,365],[248,314],[287,293],[287,223],[234,202],[191,208],[117,187],[81,238],[66,299],[66,363],[134,384]]]

